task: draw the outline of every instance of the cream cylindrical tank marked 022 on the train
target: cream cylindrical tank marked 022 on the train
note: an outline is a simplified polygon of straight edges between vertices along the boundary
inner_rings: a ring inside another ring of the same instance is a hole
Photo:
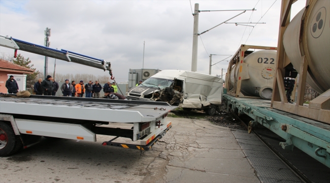
[[[230,84],[238,81],[242,72],[241,93],[245,96],[271,100],[276,67],[276,51],[255,51],[244,58],[244,62],[234,66],[230,73]],[[230,85],[233,88],[233,85]]]

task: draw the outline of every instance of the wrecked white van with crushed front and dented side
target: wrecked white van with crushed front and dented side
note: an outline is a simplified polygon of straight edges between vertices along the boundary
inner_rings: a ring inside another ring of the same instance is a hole
[[[155,94],[165,88],[171,88],[182,95],[182,98],[173,105],[202,109],[209,105],[221,104],[222,87],[223,80],[217,76],[190,71],[163,70],[151,76],[141,85],[129,89],[126,97],[131,100],[163,101]]]

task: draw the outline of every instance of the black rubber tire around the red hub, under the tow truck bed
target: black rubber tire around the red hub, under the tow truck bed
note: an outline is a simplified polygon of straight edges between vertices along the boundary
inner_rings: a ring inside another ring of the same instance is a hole
[[[6,133],[7,145],[0,149],[0,157],[6,157],[23,148],[22,140],[15,135],[14,130],[6,123],[0,121],[0,129]]]

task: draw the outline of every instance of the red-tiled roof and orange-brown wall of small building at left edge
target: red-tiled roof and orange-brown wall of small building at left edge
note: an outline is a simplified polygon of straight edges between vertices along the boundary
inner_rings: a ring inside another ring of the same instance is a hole
[[[34,70],[0,59],[0,93],[7,93],[8,74],[33,74]]]

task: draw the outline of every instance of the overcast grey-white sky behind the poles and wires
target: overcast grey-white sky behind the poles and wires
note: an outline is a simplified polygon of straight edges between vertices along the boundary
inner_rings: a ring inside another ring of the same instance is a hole
[[[200,10],[255,8],[256,11],[246,11],[228,22],[266,23],[257,24],[254,28],[222,24],[203,34],[199,38],[197,72],[209,73],[209,54],[232,55],[241,44],[277,46],[281,6],[279,0],[190,2],[0,0],[0,35],[44,45],[44,30],[49,27],[51,48],[66,49],[111,62],[117,82],[128,80],[129,69],[142,68],[144,41],[145,69],[190,71],[192,11],[195,3],[199,3]],[[293,4],[291,19],[304,8],[305,3],[305,0],[300,0]],[[201,12],[199,32],[204,32],[239,13],[237,11]],[[13,54],[14,51],[0,47],[0,52]],[[24,51],[18,53],[25,58],[29,57],[37,70],[44,70],[44,56]],[[217,63],[226,57],[212,56],[212,60],[213,63]],[[227,69],[227,67],[227,62],[216,64],[212,67],[212,74],[221,75],[221,68]],[[48,71],[53,72],[53,70],[54,59],[49,58]],[[56,72],[88,73],[96,76],[109,74],[103,70],[62,60],[56,62]]]

